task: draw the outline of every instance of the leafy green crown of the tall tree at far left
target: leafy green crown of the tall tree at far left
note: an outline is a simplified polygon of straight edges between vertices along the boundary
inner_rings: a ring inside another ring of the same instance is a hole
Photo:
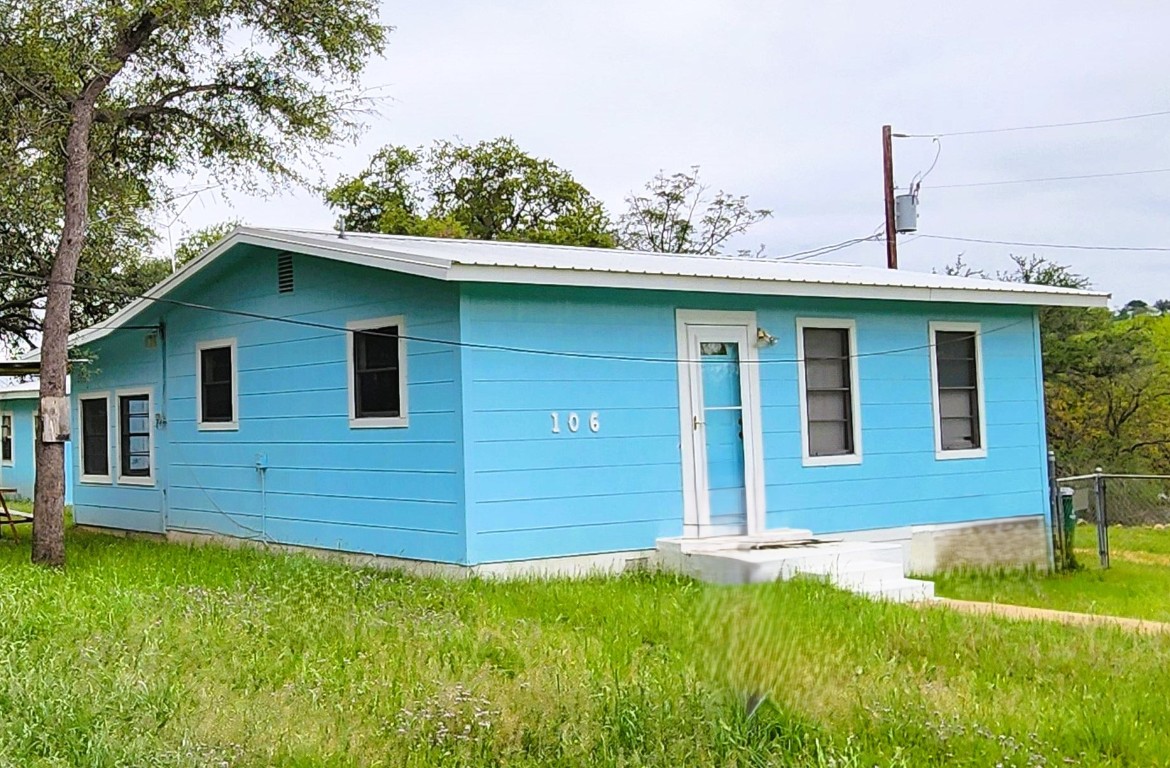
[[[373,0],[0,0],[0,343],[40,329],[83,95],[97,94],[74,327],[164,268],[140,255],[170,205],[161,179],[283,184],[355,133],[358,75],[387,34],[377,13]]]

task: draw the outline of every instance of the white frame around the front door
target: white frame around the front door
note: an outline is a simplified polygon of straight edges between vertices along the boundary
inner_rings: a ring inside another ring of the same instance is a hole
[[[756,313],[703,309],[675,310],[679,361],[679,436],[682,448],[683,536],[697,537],[710,524],[707,495],[706,443],[701,432],[702,373],[698,355],[688,344],[688,327],[724,329],[739,342],[739,396],[743,406],[744,491],[748,534],[762,533],[764,521],[764,436],[760,424],[759,358],[756,351]],[[697,426],[696,426],[697,425]],[[704,438],[706,439],[706,438]]]

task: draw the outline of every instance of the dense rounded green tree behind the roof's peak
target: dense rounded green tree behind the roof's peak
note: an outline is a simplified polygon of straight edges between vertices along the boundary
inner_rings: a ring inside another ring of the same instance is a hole
[[[358,232],[613,247],[605,207],[569,171],[511,138],[385,146],[325,191]]]

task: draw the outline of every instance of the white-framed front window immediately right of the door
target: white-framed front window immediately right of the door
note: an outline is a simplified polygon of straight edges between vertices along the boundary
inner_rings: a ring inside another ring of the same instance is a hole
[[[856,464],[861,460],[854,336],[852,320],[797,321],[805,465]]]

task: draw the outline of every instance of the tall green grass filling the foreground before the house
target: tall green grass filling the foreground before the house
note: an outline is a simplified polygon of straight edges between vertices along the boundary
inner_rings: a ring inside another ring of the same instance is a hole
[[[0,540],[0,766],[1157,766],[1170,638],[812,582]],[[741,692],[772,704],[752,719]]]

